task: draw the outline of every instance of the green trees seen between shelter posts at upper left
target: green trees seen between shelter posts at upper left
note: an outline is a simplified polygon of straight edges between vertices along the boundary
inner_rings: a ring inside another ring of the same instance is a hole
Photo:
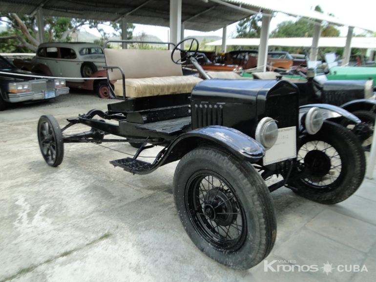
[[[7,31],[0,33],[1,52],[36,52],[39,44],[39,31],[35,17],[18,15],[15,13],[0,13],[0,21],[5,23]],[[45,41],[67,41],[71,39],[70,34],[80,30],[84,25],[89,28],[96,28],[102,35],[102,41],[107,40],[109,34],[99,27],[99,24],[107,24],[100,20],[70,19],[63,17],[44,17],[44,38]],[[120,24],[113,23],[115,33],[121,32]],[[128,24],[128,38],[132,38],[133,24]]]

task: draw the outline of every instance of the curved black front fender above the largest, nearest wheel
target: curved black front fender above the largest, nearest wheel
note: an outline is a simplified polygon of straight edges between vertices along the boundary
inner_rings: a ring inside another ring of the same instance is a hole
[[[180,135],[167,148],[163,165],[180,160],[189,151],[202,145],[216,145],[241,160],[257,162],[265,156],[265,148],[248,135],[225,126],[211,125]]]

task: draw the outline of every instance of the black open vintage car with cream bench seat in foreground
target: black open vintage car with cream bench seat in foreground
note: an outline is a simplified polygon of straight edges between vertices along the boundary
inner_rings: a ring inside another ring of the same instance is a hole
[[[134,157],[110,163],[133,174],[180,160],[172,186],[188,236],[215,261],[248,269],[268,256],[276,239],[270,192],[287,187],[324,204],[344,201],[363,181],[364,153],[352,132],[324,121],[317,107],[300,111],[296,85],[210,79],[195,60],[197,49],[178,48],[185,41],[172,52],[104,48],[108,80],[117,81],[111,95],[121,101],[69,118],[63,128],[42,116],[40,149],[58,166],[64,143],[129,142],[138,147]],[[180,64],[187,61],[206,80],[183,76]],[[75,124],[91,129],[65,135]],[[138,159],[155,145],[161,150],[154,161]],[[268,187],[273,175],[283,180]]]

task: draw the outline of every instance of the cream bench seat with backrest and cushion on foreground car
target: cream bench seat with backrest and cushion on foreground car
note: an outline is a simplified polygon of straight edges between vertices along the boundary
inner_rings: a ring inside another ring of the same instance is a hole
[[[125,96],[132,98],[190,93],[202,79],[183,76],[181,65],[171,60],[171,50],[104,49],[107,66],[120,66],[125,74]],[[180,52],[174,53],[174,60]],[[123,97],[120,70],[108,70],[116,81],[115,95]]]

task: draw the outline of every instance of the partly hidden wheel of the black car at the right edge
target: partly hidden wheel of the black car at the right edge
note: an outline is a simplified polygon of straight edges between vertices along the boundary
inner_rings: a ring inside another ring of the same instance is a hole
[[[373,141],[376,114],[364,110],[354,111],[352,114],[362,122],[354,125],[350,121],[344,120],[341,124],[350,129],[359,138],[364,151],[369,151]]]

